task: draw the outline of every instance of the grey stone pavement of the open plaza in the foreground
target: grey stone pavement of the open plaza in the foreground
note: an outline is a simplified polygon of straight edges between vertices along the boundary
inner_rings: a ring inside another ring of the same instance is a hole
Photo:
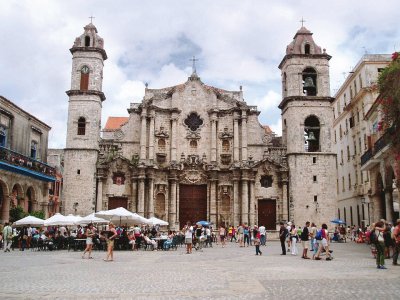
[[[299,252],[301,246],[298,244]],[[279,242],[202,252],[0,253],[0,299],[399,299],[400,267],[377,270],[364,244],[332,244],[334,260],[281,256]]]

